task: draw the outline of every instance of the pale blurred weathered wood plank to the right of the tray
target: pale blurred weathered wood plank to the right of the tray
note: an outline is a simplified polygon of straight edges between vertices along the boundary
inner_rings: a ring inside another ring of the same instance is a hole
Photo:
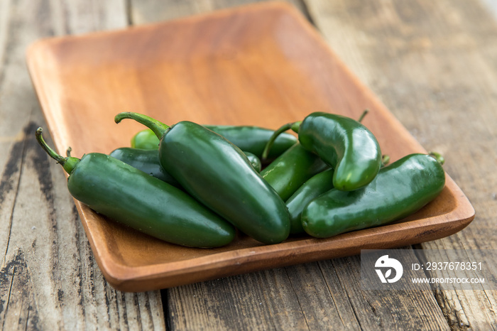
[[[496,248],[497,24],[486,2],[307,1],[329,45],[427,149],[444,154],[475,207],[469,227],[423,249]],[[435,293],[451,327],[496,327],[495,291]]]

